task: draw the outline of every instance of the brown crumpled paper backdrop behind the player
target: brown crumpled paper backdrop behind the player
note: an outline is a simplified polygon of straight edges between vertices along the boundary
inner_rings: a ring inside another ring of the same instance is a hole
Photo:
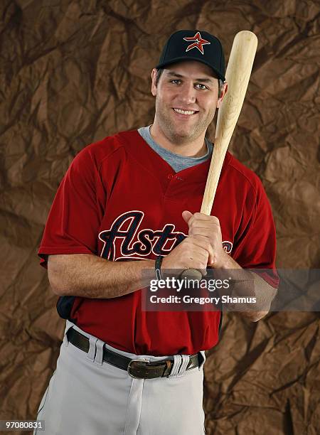
[[[86,144],[152,122],[151,68],[179,28],[215,33],[227,58],[235,33],[257,34],[230,150],[267,190],[277,266],[320,267],[318,1],[2,0],[0,11],[0,419],[36,418],[58,358],[64,324],[36,255],[58,183]],[[319,313],[225,315],[206,363],[207,433],[319,434],[319,355]]]

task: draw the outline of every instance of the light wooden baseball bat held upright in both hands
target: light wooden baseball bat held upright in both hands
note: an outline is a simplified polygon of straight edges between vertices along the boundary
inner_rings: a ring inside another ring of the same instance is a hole
[[[225,80],[228,82],[228,92],[218,111],[213,154],[201,205],[201,213],[206,215],[211,213],[225,153],[233,135],[235,124],[238,122],[243,100],[245,100],[245,92],[247,92],[256,50],[257,36],[255,36],[255,33],[241,31],[235,35],[225,73]],[[202,274],[197,269],[185,269],[180,277],[201,279]]]

